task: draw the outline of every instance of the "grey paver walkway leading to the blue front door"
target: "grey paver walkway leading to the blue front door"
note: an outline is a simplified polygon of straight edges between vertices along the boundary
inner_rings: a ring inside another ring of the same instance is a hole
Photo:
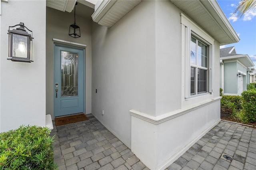
[[[92,114],[89,120],[55,126],[54,161],[59,170],[148,170]]]

